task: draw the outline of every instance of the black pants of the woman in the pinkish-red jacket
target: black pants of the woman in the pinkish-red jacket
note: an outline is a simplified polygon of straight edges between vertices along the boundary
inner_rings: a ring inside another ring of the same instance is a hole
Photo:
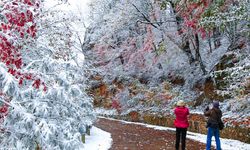
[[[187,135],[187,128],[176,128],[176,143],[175,143],[176,150],[179,150],[180,140],[181,140],[181,148],[182,150],[185,150],[186,135]]]

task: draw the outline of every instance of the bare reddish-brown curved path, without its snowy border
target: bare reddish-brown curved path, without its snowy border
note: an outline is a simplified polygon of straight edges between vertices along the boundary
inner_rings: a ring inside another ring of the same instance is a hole
[[[175,132],[99,118],[95,126],[111,133],[111,150],[175,150]],[[186,150],[204,150],[205,144],[189,140]]]

